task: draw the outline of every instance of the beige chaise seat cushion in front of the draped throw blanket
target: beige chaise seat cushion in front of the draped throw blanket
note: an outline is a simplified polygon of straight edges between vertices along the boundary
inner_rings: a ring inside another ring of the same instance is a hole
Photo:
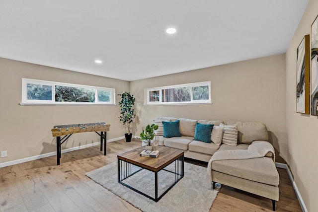
[[[212,170],[268,185],[278,186],[279,174],[269,157],[238,160],[216,160]]]

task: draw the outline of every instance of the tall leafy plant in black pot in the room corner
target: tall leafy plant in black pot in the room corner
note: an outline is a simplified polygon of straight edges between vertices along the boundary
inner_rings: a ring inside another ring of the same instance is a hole
[[[131,133],[131,123],[136,117],[134,109],[136,98],[134,95],[131,95],[130,92],[124,92],[122,94],[118,94],[118,96],[121,96],[121,99],[118,103],[120,106],[119,119],[120,122],[127,128],[127,133],[125,133],[126,142],[130,142],[133,135]]]

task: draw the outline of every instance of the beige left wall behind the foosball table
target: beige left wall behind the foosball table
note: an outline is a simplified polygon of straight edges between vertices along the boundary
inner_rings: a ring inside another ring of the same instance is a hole
[[[129,90],[128,81],[0,58],[0,151],[7,150],[8,154],[0,158],[0,163],[56,151],[56,140],[51,134],[54,125],[106,122],[111,125],[107,139],[124,135],[118,106],[20,106],[21,78],[112,87],[116,93]],[[97,141],[96,133],[75,134],[62,147]]]

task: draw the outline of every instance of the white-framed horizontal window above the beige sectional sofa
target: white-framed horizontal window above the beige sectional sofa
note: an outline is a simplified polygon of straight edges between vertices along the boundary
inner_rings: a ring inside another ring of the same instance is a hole
[[[211,82],[172,85],[146,89],[146,104],[209,104]]]

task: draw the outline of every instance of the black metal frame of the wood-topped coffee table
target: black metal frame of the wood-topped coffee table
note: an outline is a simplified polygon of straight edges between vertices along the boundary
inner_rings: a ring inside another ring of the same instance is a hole
[[[170,170],[167,170],[167,169],[164,169],[165,167],[167,167],[168,165],[170,165],[171,163],[175,162],[175,172],[173,171],[170,171]],[[118,165],[118,183],[134,190],[135,192],[141,194],[141,195],[144,195],[145,197],[148,197],[149,199],[155,201],[155,202],[158,202],[183,176],[184,176],[184,156],[181,155],[180,157],[176,158],[175,160],[171,161],[170,163],[168,163],[166,166],[164,166],[162,169],[158,170],[158,171],[153,171],[153,170],[150,170],[148,168],[144,168],[144,167],[141,167],[139,165],[136,165],[136,164],[132,164],[130,162],[127,162],[125,160],[122,160],[122,159],[119,159],[118,158],[118,161],[117,161],[117,165]],[[132,169],[131,169],[131,165],[135,165],[135,166],[138,166],[140,167],[141,169],[135,171],[135,172],[132,172]],[[143,170],[143,169],[147,169],[151,172],[154,172],[155,173],[155,198],[133,188],[132,186],[130,185],[127,185],[126,183],[122,182],[123,180],[127,179],[128,177],[131,177],[132,175],[136,174],[137,172]],[[161,170],[164,170],[164,171],[168,171],[170,173],[173,173],[174,176],[175,176],[175,181],[174,183],[167,189],[165,190],[159,197],[158,197],[158,172],[161,171]]]

